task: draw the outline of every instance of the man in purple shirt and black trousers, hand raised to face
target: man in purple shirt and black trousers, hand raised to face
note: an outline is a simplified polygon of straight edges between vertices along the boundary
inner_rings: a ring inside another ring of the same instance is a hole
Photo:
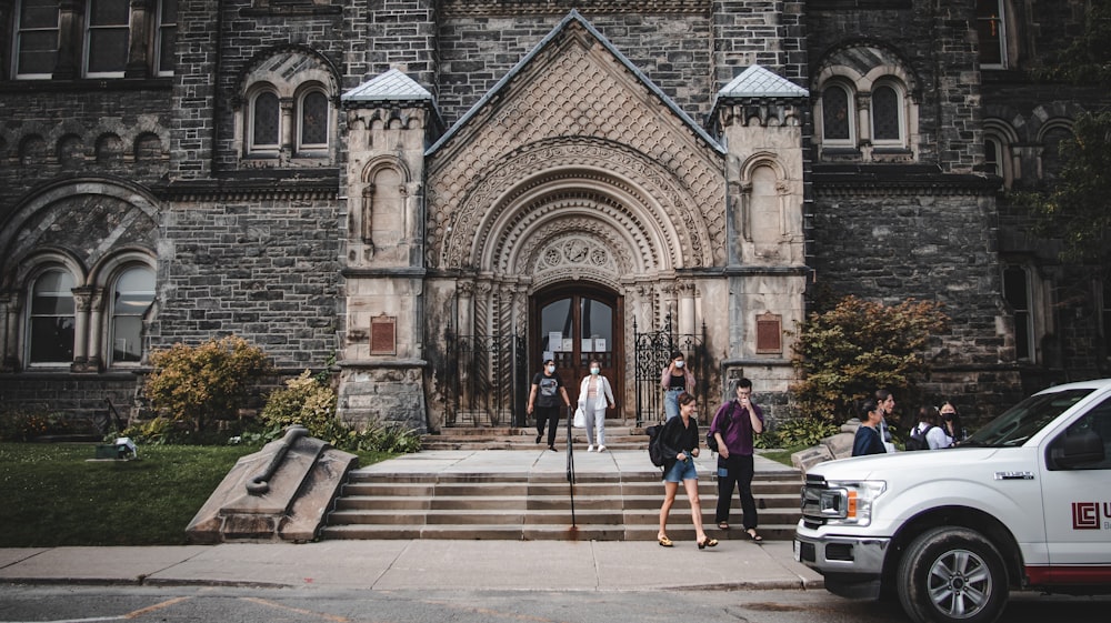
[[[755,543],[763,536],[757,533],[757,503],[752,499],[752,438],[763,432],[763,412],[752,404],[752,381],[737,381],[737,398],[718,408],[710,424],[710,432],[718,440],[718,527],[729,530],[729,505],[733,485],[740,490],[741,511],[744,513],[744,534]]]

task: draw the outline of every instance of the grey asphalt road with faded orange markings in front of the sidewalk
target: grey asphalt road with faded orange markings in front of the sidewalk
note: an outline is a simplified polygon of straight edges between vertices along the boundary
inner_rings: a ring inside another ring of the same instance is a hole
[[[1001,621],[1105,621],[1111,596],[1014,595]],[[353,591],[0,586],[0,623],[904,623],[825,591]]]

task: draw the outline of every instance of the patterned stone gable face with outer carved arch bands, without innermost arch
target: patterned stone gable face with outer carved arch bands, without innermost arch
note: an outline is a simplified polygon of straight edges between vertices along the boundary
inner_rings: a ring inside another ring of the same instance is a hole
[[[429,265],[499,268],[490,249],[502,248],[493,241],[506,240],[508,223],[569,188],[589,189],[647,232],[638,235],[651,252],[637,250],[653,258],[647,270],[723,261],[723,157],[645,97],[605,47],[578,26],[568,31],[504,86],[510,98],[477,111],[433,153]]]

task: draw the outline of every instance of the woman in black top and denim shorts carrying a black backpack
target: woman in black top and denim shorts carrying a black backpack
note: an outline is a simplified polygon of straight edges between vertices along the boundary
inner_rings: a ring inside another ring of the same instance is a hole
[[[670,547],[671,539],[668,539],[668,514],[671,505],[675,503],[675,493],[679,491],[679,483],[683,483],[687,489],[687,498],[691,503],[691,519],[694,521],[694,533],[698,539],[698,549],[713,547],[718,544],[717,539],[709,539],[702,530],[702,503],[698,499],[698,470],[694,469],[694,458],[698,456],[698,422],[694,421],[694,409],[698,402],[694,396],[683,392],[679,394],[679,416],[672,418],[663,424],[660,431],[660,445],[663,449],[663,491],[665,496],[663,505],[660,506],[660,533],[657,539],[660,545]]]

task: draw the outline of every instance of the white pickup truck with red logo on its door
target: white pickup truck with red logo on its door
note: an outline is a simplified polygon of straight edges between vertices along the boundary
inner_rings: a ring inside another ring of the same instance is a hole
[[[1111,592],[1111,379],[1039,392],[959,448],[820,463],[795,557],[919,623],[990,623],[1012,589]]]

